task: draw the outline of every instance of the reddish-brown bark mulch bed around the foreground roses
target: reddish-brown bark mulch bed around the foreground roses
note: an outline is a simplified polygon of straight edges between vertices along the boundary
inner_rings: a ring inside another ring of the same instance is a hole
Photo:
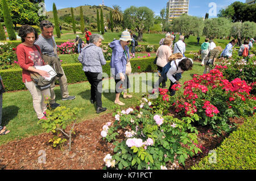
[[[11,141],[0,146],[0,169],[47,169],[47,170],[99,170],[104,165],[104,157],[110,153],[113,155],[113,144],[102,140],[101,131],[107,122],[114,122],[112,113],[86,120],[75,127],[76,136],[72,138],[72,149],[68,151],[68,145],[61,149],[53,148],[48,140],[52,133],[43,133],[38,136]],[[238,120],[234,120],[238,121]],[[217,148],[223,140],[222,137],[213,136],[207,127],[197,127],[199,131],[198,146],[203,153],[188,158],[185,167],[179,165],[175,169],[189,169],[200,159],[208,154],[209,150]],[[68,141],[67,141],[68,142]],[[42,161],[42,153],[46,155],[46,162]],[[168,168],[168,167],[167,167]]]

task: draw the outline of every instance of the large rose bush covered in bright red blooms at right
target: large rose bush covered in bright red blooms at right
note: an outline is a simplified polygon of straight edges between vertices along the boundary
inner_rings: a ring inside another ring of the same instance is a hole
[[[230,117],[252,115],[255,97],[249,94],[251,87],[240,78],[229,82],[220,70],[226,66],[216,66],[209,74],[194,75],[184,82],[184,92],[172,104],[180,115],[197,113],[200,125],[210,125],[216,134],[231,132],[234,125]],[[176,86],[172,89],[176,90]]]

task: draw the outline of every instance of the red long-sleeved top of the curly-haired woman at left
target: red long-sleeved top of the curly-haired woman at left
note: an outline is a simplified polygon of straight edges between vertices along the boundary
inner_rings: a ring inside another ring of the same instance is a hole
[[[36,49],[36,47],[38,49]],[[33,47],[28,47],[23,44],[19,44],[16,48],[16,54],[18,57],[18,63],[20,68],[22,68],[22,82],[31,82],[32,79],[30,77],[30,71],[27,69],[30,66],[43,66],[44,61],[43,58],[41,57],[41,50],[38,45],[34,45]]]

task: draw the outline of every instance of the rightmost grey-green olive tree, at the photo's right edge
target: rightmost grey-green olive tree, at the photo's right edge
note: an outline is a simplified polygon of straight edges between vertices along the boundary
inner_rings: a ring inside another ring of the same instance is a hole
[[[248,37],[256,36],[256,23],[254,22],[236,22],[233,23],[230,35],[238,40],[238,44],[241,45],[242,41]]]

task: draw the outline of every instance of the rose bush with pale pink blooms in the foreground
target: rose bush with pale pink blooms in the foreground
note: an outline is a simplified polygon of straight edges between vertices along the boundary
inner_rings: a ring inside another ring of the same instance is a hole
[[[114,113],[115,123],[104,140],[115,141],[111,156],[115,169],[166,169],[166,164],[177,167],[201,151],[197,148],[197,130],[191,121],[196,115],[179,120],[172,116],[163,116],[162,111],[155,112],[152,100],[143,98],[135,110],[117,110]],[[114,136],[113,136],[114,135]],[[116,137],[123,139],[116,141]],[[112,137],[113,139],[106,139]],[[106,167],[110,167],[110,159]],[[113,167],[113,165],[112,165]]]

